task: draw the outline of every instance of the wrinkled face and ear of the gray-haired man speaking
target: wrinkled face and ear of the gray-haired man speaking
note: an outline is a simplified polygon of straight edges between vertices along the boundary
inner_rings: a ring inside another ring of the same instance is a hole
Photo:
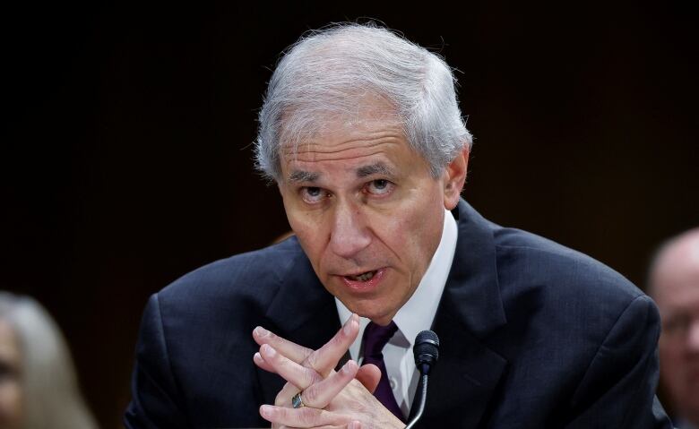
[[[289,224],[324,287],[350,311],[387,324],[419,285],[466,171],[435,178],[401,127],[369,108],[282,153]]]

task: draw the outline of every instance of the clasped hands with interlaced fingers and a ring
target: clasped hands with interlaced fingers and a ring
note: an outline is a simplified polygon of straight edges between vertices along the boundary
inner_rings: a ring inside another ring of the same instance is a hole
[[[359,367],[350,360],[334,371],[358,332],[358,315],[352,314],[330,341],[312,350],[255,328],[253,338],[260,345],[253,357],[255,365],[287,381],[273,406],[260,407],[260,415],[273,428],[404,428],[372,394],[381,379],[378,367]],[[292,408],[291,399],[298,392],[305,407]]]

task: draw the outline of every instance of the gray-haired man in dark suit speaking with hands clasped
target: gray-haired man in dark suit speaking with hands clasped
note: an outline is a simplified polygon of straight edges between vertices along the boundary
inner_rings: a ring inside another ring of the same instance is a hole
[[[440,359],[419,427],[669,425],[652,301],[480,217],[460,199],[470,142],[426,49],[354,24],[291,47],[257,160],[296,236],[151,297],[126,426],[404,427],[429,328]]]

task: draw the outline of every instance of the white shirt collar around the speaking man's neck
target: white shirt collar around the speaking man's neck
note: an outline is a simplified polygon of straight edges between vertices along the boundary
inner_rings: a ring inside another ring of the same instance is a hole
[[[435,254],[432,256],[432,261],[429,262],[425,275],[420,280],[418,288],[410,296],[408,302],[393,317],[393,322],[398,326],[398,330],[401,333],[401,342],[405,344],[407,341],[410,347],[413,346],[415,337],[421,330],[428,330],[432,326],[439,300],[442,298],[442,292],[444,292],[446,279],[452,268],[458,228],[451,211],[444,210],[443,224],[442,238],[439,241]],[[352,313],[337,298],[335,298],[335,305],[337,305],[337,311],[340,315],[340,322],[346,322]],[[352,359],[358,359],[364,329],[369,322],[369,319],[366,317],[359,318],[359,334],[350,346],[350,357]]]

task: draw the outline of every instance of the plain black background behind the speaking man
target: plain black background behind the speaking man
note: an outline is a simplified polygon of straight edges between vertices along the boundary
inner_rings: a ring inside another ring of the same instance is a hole
[[[694,6],[379,3],[4,6],[0,288],[56,316],[104,427],[147,296],[289,228],[255,117],[280,51],[331,21],[384,21],[459,70],[464,195],[489,219],[641,286],[699,224]]]

